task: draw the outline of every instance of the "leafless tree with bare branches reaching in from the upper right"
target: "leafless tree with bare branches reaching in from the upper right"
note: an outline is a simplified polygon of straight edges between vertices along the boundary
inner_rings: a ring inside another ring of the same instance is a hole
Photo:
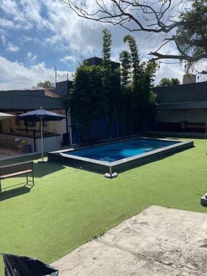
[[[190,11],[192,3],[197,0],[91,0],[92,9],[88,8],[83,0],[60,0],[66,7],[72,9],[79,17],[94,21],[111,23],[113,26],[121,26],[130,32],[144,31],[149,34],[166,34],[161,46],[150,52],[154,59],[179,59],[190,63],[207,58],[207,34],[199,41],[177,35],[177,30],[184,27],[180,14]],[[204,3],[206,0],[199,0]],[[206,11],[207,12],[207,11]],[[207,13],[206,13],[207,17]],[[193,22],[192,22],[193,24]],[[206,28],[206,26],[204,26]],[[205,30],[205,29],[204,29]],[[161,48],[169,42],[174,42],[178,55],[164,55]],[[199,55],[190,55],[183,45],[201,47]]]

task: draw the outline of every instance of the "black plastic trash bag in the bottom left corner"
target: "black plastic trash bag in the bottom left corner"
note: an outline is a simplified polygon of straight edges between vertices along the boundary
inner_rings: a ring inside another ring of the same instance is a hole
[[[58,276],[58,270],[48,264],[25,256],[1,254],[5,276]]]

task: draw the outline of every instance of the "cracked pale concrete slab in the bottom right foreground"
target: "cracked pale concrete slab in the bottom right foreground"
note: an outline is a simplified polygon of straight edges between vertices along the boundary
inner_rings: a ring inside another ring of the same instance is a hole
[[[207,275],[207,213],[150,206],[52,266],[60,276]]]

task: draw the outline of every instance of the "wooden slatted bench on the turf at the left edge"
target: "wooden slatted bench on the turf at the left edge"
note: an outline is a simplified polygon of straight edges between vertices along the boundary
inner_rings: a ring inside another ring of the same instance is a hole
[[[32,180],[28,179],[28,174],[32,172]],[[22,162],[7,166],[0,166],[0,193],[2,193],[1,180],[18,175],[26,175],[26,184],[32,182],[34,186],[33,161]]]

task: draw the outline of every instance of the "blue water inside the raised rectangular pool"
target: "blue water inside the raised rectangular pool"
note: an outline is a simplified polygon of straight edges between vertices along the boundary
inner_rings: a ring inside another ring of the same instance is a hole
[[[179,142],[151,139],[136,139],[64,153],[68,155],[86,157],[110,163],[135,155],[141,155],[142,153],[149,152],[151,150],[157,150],[158,148],[164,148],[166,146],[171,146],[177,143]]]

